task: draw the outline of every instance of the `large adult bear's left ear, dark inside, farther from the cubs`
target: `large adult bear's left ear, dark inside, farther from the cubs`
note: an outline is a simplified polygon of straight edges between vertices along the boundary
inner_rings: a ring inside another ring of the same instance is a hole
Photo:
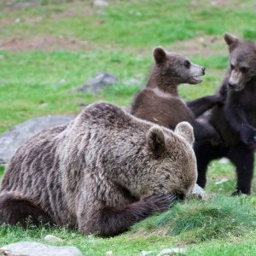
[[[156,156],[160,157],[166,151],[166,139],[164,131],[154,125],[147,134],[148,149]]]

